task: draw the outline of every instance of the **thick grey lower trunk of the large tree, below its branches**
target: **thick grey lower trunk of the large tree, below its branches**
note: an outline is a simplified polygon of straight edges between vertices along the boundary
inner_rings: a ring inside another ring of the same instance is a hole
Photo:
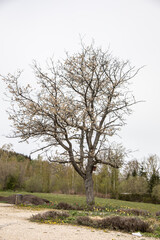
[[[87,205],[94,205],[94,190],[93,190],[93,178],[92,173],[86,174],[84,179],[86,189],[86,201]]]

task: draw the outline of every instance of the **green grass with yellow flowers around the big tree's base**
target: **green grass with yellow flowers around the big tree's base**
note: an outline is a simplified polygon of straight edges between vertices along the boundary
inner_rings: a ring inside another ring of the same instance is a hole
[[[0,192],[0,196],[10,196],[13,194],[31,194],[27,192]],[[66,194],[53,194],[53,193],[32,193],[40,198],[48,199],[51,203],[48,205],[38,206],[38,208],[51,208],[54,209],[60,202],[68,203],[73,206],[83,206],[83,210],[69,210],[69,218],[64,221],[64,223],[69,224],[76,224],[77,217],[114,217],[114,216],[121,216],[121,217],[135,217],[143,220],[144,222],[148,222],[149,225],[154,229],[152,233],[144,233],[144,236],[153,236],[160,238],[160,216],[156,216],[156,212],[160,212],[160,205],[158,204],[150,204],[150,203],[137,203],[137,202],[128,202],[128,201],[121,201],[115,199],[104,199],[104,198],[95,198],[95,210],[86,210],[86,198],[85,196],[79,195],[66,195]],[[37,209],[37,206],[21,206],[21,207],[31,207]],[[105,207],[102,211],[97,210],[98,207]],[[119,209],[122,209],[121,212],[118,212]],[[136,216],[134,213],[129,213],[128,211],[137,209],[140,211],[148,211],[149,215],[140,215]],[[132,221],[132,220],[131,220]],[[52,223],[51,219],[47,219],[43,221],[44,223]],[[55,223],[55,220],[54,222]],[[60,223],[60,222],[57,222]]]

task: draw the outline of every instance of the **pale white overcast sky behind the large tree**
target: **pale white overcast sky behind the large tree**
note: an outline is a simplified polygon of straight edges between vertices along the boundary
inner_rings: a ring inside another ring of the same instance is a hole
[[[117,141],[133,150],[130,158],[160,156],[160,0],[0,0],[0,74],[23,69],[22,81],[31,81],[33,59],[45,65],[53,55],[78,51],[79,35],[137,68],[145,65],[132,85],[145,102],[134,107]],[[32,144],[5,137],[11,123],[0,86],[0,147],[12,143],[29,154]]]

